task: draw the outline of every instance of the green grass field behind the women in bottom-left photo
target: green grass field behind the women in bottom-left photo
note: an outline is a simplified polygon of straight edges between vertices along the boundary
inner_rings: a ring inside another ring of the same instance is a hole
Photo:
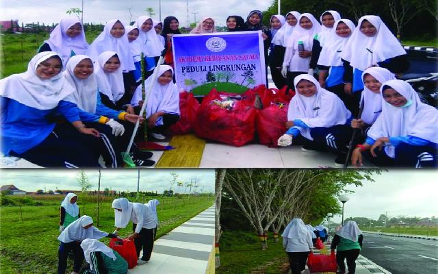
[[[14,199],[16,199],[14,197]],[[34,199],[43,206],[1,206],[0,207],[0,273],[56,273],[57,236],[59,228],[59,205],[64,195],[44,195]],[[99,209],[99,229],[105,232],[114,231],[114,210],[111,201],[115,197],[103,197]],[[157,207],[159,228],[157,238],[170,232],[188,219],[209,208],[214,197],[180,195],[179,197],[142,197],[140,203],[149,199],[160,201]],[[130,199],[130,201],[134,201]],[[78,205],[81,215],[92,216],[97,224],[96,197],[79,195]],[[131,224],[120,230],[120,236],[131,234]],[[103,238],[106,244],[109,238]],[[68,269],[73,262],[68,261]]]

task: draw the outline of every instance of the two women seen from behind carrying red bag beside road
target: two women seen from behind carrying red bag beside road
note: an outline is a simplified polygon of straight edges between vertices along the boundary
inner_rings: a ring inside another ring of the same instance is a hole
[[[283,237],[283,249],[289,258],[289,266],[292,274],[299,274],[305,270],[307,257],[313,251],[313,245],[318,236],[318,230],[326,229],[324,225],[316,227],[305,225],[302,219],[294,218],[290,221],[281,236]],[[329,232],[326,232],[327,236]],[[313,242],[312,242],[313,240]],[[335,232],[331,242],[331,249],[336,249],[336,260],[339,273],[345,273],[344,260],[347,259],[348,273],[355,273],[355,261],[362,247],[363,235],[355,221],[346,221],[341,229]]]

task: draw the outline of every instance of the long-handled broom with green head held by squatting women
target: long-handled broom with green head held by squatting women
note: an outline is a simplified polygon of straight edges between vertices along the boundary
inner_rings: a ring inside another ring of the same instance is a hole
[[[163,56],[164,56],[164,51],[163,51],[162,55],[159,56],[157,66],[155,66],[155,69],[153,70],[153,74],[151,75],[151,77],[152,77],[151,85],[148,87],[147,92],[144,92],[144,90],[145,90],[144,77],[146,75],[146,72],[144,69],[144,54],[143,53],[141,54],[141,61],[140,62],[142,64],[142,94],[144,94],[144,101],[143,101],[142,109],[140,110],[140,113],[138,114],[138,116],[143,116],[144,109],[146,108],[146,102],[148,101],[149,95],[151,95],[153,84],[155,83],[155,79],[157,79],[159,66],[163,62]],[[140,125],[140,120],[137,120],[136,125],[135,125],[134,130],[133,130],[132,135],[131,135],[131,140],[129,140],[128,147],[127,147],[126,151],[122,152],[123,162],[125,162],[125,164],[127,164],[127,166],[129,166],[129,167],[136,167],[136,164],[133,163],[131,155],[129,155],[129,151],[131,151],[131,147],[132,147],[132,144],[134,142],[134,138],[136,137],[139,125]]]

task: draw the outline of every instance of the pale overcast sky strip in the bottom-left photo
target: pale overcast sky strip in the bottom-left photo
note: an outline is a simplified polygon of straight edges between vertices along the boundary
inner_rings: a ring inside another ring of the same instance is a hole
[[[189,182],[190,178],[196,177],[198,191],[203,188],[204,192],[214,192],[214,169],[140,169],[140,190],[163,192],[170,187],[170,180],[173,178],[170,172],[174,171],[179,175],[177,182]],[[17,188],[25,191],[35,192],[38,189],[44,190],[80,190],[77,184],[77,170],[47,170],[47,169],[21,169],[1,170],[0,185],[14,184]],[[92,190],[97,189],[99,172],[86,170],[86,175],[92,184]],[[101,190],[110,188],[112,190],[137,190],[137,170],[101,170]],[[175,192],[178,187],[172,188]],[[183,188],[181,188],[183,192]]]

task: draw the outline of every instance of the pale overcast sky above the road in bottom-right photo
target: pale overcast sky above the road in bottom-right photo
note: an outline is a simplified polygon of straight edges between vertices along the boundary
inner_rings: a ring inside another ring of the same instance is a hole
[[[438,171],[392,170],[374,175],[376,182],[351,187],[355,193],[344,206],[344,218],[350,216],[378,219],[388,211],[394,216],[438,216]],[[334,221],[340,222],[341,216]]]

